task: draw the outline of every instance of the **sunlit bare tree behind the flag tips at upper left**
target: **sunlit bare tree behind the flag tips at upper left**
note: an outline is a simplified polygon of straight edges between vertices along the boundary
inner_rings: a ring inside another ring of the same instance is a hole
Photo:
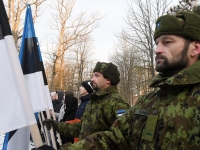
[[[29,4],[33,11],[33,20],[41,15],[40,7],[46,0],[29,0]],[[8,14],[8,20],[10,22],[13,38],[17,50],[19,51],[20,39],[23,32],[24,14],[27,7],[27,0],[6,0],[5,5]]]

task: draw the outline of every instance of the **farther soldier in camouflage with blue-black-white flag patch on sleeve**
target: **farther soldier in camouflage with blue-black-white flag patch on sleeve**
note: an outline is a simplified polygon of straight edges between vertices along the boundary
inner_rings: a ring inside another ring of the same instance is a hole
[[[51,119],[44,121],[48,129],[67,137],[83,139],[95,132],[109,130],[114,121],[119,118],[130,105],[119,95],[117,84],[120,74],[113,63],[97,62],[91,79],[94,92],[88,102],[80,123],[66,124]]]

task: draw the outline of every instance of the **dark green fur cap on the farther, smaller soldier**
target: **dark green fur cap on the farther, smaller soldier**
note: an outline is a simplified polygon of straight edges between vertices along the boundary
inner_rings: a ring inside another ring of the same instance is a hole
[[[117,85],[120,81],[120,73],[117,66],[113,63],[97,62],[93,72],[100,72],[103,76],[111,81],[112,85]]]

